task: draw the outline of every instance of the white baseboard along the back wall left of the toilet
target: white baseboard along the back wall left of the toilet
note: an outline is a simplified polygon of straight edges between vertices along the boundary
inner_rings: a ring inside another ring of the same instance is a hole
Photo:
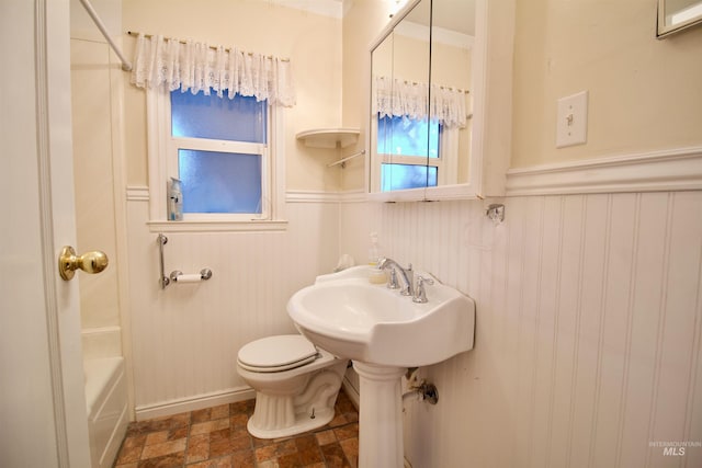
[[[136,420],[143,421],[151,418],[169,416],[253,398],[256,398],[256,391],[252,388],[239,387],[212,393],[196,395],[179,400],[169,400],[156,404],[137,406]]]

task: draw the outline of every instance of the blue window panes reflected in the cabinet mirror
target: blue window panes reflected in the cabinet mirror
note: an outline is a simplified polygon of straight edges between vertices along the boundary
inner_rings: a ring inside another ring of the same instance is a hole
[[[437,186],[442,125],[438,121],[378,115],[381,191]]]

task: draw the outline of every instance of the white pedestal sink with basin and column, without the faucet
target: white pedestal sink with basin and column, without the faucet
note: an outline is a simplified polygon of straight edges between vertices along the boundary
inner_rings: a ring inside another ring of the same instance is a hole
[[[401,468],[401,376],[471,350],[475,303],[434,281],[428,303],[417,304],[367,278],[369,266],[319,276],[293,295],[287,313],[309,341],[353,361],[360,468]]]

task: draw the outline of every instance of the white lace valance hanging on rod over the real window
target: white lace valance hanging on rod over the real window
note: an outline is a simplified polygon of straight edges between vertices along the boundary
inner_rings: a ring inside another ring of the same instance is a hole
[[[163,36],[138,35],[132,83],[207,95],[212,89],[219,98],[238,93],[272,105],[295,105],[290,60]]]

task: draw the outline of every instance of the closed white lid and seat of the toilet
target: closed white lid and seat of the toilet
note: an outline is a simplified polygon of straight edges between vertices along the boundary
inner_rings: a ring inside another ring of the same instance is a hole
[[[284,370],[305,365],[317,357],[317,349],[301,334],[267,336],[239,350],[239,364],[250,370]]]

